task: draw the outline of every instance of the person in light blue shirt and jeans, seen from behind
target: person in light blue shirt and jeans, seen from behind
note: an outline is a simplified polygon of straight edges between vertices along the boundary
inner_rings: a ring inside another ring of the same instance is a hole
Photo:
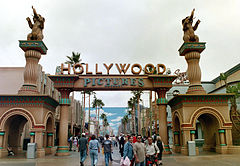
[[[91,136],[91,141],[89,142],[89,149],[90,149],[91,166],[96,166],[98,162],[98,153],[100,153],[100,146],[95,135]]]

